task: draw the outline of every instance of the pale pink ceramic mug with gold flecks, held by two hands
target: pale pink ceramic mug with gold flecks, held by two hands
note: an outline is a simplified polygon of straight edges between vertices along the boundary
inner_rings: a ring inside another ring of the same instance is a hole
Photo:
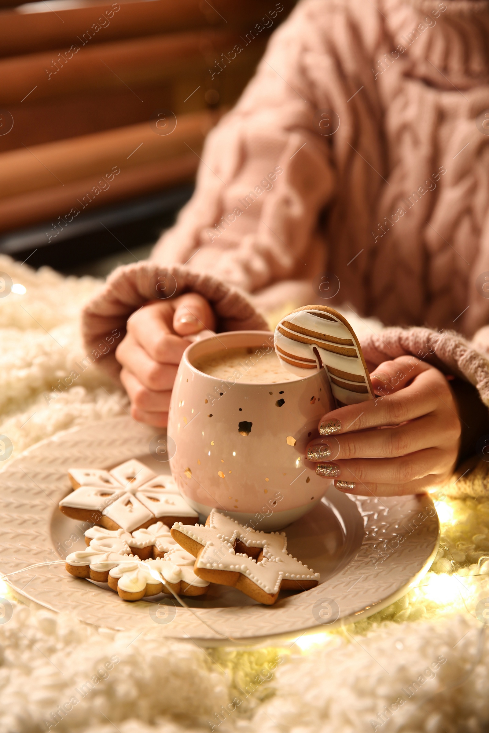
[[[304,457],[333,400],[324,369],[296,381],[222,380],[195,362],[225,348],[273,350],[268,331],[229,331],[189,346],[174,382],[168,435],[172,474],[188,504],[207,517],[217,508],[261,530],[283,528],[309,512],[331,485]]]

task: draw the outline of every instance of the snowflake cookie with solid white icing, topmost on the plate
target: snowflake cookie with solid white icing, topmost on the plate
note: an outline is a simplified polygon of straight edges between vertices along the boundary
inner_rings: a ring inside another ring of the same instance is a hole
[[[172,476],[155,476],[139,460],[126,461],[110,472],[71,468],[68,475],[78,488],[59,502],[59,508],[72,519],[127,532],[158,521],[172,525],[199,520]]]

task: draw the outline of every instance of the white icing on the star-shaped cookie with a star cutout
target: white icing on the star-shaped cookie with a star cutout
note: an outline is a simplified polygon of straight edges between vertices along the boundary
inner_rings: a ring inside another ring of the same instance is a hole
[[[195,567],[210,570],[229,570],[246,575],[262,590],[275,594],[282,578],[293,581],[319,581],[320,574],[293,558],[286,551],[287,537],[284,532],[258,532],[221,515],[216,509],[210,512],[209,526],[183,525],[177,522],[172,527],[186,537],[194,539],[204,549],[196,560]],[[235,553],[233,545],[237,540],[249,548],[262,548],[263,559],[259,562],[241,553]]]

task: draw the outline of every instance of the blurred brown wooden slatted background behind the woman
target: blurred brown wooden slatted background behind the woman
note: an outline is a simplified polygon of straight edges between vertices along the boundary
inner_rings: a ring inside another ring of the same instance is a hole
[[[96,276],[147,257],[293,4],[0,0],[0,254]]]

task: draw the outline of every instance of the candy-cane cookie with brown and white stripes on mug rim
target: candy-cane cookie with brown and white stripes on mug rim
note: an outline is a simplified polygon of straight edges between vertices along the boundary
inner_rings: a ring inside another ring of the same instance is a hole
[[[288,371],[309,377],[324,367],[337,407],[373,399],[359,340],[342,314],[328,306],[304,306],[282,318],[273,336]]]

